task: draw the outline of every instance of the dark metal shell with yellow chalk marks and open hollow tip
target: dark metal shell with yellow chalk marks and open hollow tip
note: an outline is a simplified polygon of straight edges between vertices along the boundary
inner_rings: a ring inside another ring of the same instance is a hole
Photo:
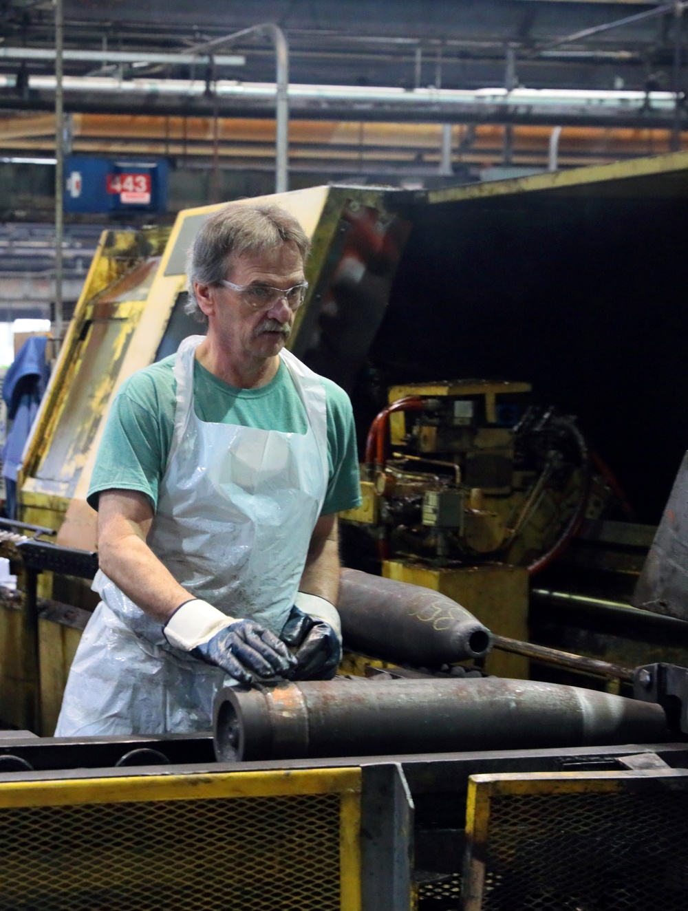
[[[491,636],[467,609],[432,589],[343,569],[337,603],[344,646],[416,667],[481,658]]]

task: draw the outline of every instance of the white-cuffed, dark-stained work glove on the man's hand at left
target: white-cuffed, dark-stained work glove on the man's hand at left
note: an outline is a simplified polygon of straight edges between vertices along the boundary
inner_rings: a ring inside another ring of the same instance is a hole
[[[247,685],[284,677],[296,663],[270,630],[255,620],[227,617],[200,599],[180,604],[162,632],[175,649],[214,664]]]

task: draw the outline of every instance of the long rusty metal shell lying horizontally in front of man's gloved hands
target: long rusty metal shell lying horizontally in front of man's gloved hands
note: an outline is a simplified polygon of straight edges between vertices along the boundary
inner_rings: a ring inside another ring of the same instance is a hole
[[[227,688],[218,760],[538,749],[671,740],[658,705],[539,681],[381,680]]]

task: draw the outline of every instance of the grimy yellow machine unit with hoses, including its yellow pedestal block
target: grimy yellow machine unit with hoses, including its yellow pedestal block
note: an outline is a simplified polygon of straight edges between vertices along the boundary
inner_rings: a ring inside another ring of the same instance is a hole
[[[347,560],[379,561],[385,576],[437,589],[527,640],[528,578],[584,520],[621,511],[618,485],[575,418],[536,404],[527,383],[406,384],[388,399],[367,435],[363,504],[342,516]],[[493,655],[488,669],[529,674],[513,655]]]

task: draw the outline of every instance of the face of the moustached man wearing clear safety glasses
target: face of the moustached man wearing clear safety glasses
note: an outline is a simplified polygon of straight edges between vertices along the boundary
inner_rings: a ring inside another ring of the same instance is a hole
[[[236,285],[270,285],[286,291],[304,281],[303,258],[293,241],[274,250],[231,256],[226,277]],[[256,311],[241,292],[212,289],[210,329],[223,347],[240,357],[270,358],[280,353],[292,332],[294,312],[282,298]]]

